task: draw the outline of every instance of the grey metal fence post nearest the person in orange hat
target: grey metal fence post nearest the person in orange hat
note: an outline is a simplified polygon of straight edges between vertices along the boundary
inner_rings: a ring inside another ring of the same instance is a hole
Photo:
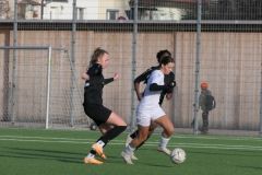
[[[200,72],[200,46],[201,46],[201,3],[198,0],[198,23],[196,23],[196,60],[195,60],[195,88],[194,88],[194,135],[198,135],[198,115],[199,115],[199,72]]]

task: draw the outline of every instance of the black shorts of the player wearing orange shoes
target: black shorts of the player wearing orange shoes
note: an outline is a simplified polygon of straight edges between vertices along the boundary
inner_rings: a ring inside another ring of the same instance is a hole
[[[84,110],[85,114],[92,118],[97,126],[105,124],[112,113],[110,109],[98,103],[85,103]]]

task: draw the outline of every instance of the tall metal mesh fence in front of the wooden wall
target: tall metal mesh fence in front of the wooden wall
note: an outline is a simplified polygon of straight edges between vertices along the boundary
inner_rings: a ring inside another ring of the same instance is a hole
[[[134,110],[139,103],[133,79],[157,66],[156,54],[168,49],[176,59],[177,88],[170,101],[164,100],[163,108],[175,127],[190,128],[193,118],[202,127],[199,95],[200,84],[206,82],[216,100],[215,109],[209,113],[210,129],[261,133],[260,0],[7,0],[0,1],[0,15],[1,46],[51,46],[68,50],[57,54],[53,60],[58,65],[52,69],[56,83],[50,91],[53,96],[50,106],[56,106],[50,108],[50,115],[56,114],[50,122],[53,127],[88,127],[81,106],[84,93],[81,73],[88,67],[94,49],[103,47],[110,55],[105,77],[120,72],[117,82],[105,86],[104,104],[131,128],[135,127]],[[23,65],[36,67],[34,71],[28,68],[33,81],[25,90],[32,94],[46,91],[46,82],[34,80],[41,63],[31,63],[43,60],[44,54],[21,55],[15,49],[12,54],[1,52],[0,125],[37,127],[28,118],[37,117],[35,112],[41,107],[21,95],[17,83],[29,78],[19,70],[24,69]],[[16,63],[15,69],[13,60],[23,63]],[[34,88],[35,83],[40,88]],[[41,95],[46,97],[45,93]],[[23,103],[25,114],[20,113],[17,104],[23,98],[29,101]],[[45,122],[45,118],[38,121]]]

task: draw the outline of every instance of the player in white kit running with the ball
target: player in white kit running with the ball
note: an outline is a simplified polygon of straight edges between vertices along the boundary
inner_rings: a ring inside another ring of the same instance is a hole
[[[124,159],[127,164],[133,164],[131,156],[136,147],[146,140],[151,120],[154,120],[164,128],[158,147],[166,148],[174,132],[174,126],[170,119],[158,104],[162,91],[176,85],[175,81],[167,84],[164,83],[164,74],[169,74],[174,67],[175,60],[170,56],[164,57],[159,62],[159,69],[153,71],[147,81],[144,96],[136,108],[139,135],[121,152],[121,156]]]

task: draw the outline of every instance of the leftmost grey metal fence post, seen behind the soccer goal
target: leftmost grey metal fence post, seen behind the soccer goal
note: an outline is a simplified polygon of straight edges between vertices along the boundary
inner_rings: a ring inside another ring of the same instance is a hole
[[[16,46],[17,37],[17,0],[14,1],[14,23],[13,23],[13,46]],[[16,50],[13,49],[13,70],[12,70],[12,104],[11,104],[11,125],[15,121],[15,71],[16,71]]]

